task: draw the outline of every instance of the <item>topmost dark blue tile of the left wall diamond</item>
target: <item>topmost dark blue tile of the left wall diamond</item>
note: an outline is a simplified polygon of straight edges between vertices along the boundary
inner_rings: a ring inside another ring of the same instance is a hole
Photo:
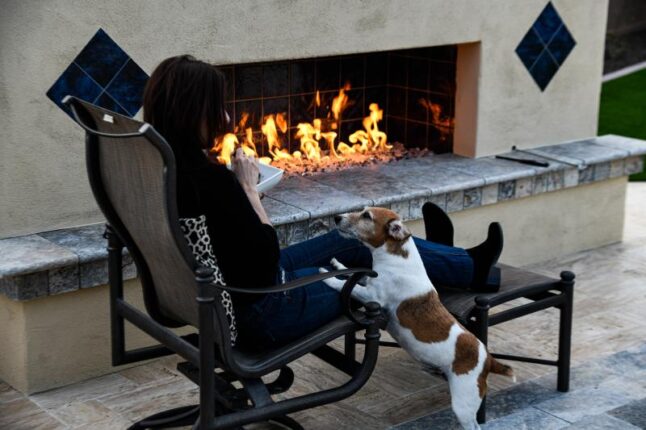
[[[105,31],[99,29],[74,62],[105,87],[128,58],[128,54]]]

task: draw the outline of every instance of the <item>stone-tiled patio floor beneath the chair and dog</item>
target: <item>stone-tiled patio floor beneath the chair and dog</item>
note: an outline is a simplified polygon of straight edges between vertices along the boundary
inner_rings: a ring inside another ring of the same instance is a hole
[[[552,368],[515,363],[518,382],[490,379],[488,429],[646,428],[646,183],[628,186],[622,243],[531,266],[577,274],[571,391],[557,393]],[[493,328],[490,347],[510,354],[556,354],[555,309]],[[155,411],[197,402],[197,389],[158,360],[25,397],[0,381],[0,428],[115,429]],[[310,358],[293,366],[289,393],[343,376]],[[288,393],[288,394],[289,394]],[[371,381],[356,395],[294,417],[307,429],[453,428],[446,383],[401,350],[382,349]],[[255,426],[256,428],[267,426]]]

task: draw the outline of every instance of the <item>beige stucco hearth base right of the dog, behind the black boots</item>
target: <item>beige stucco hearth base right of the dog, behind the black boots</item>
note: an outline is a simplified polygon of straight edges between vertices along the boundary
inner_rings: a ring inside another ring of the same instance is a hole
[[[449,214],[455,245],[469,248],[487,236],[489,223],[503,227],[500,261],[525,265],[620,242],[626,177]],[[409,223],[424,237],[422,220]]]

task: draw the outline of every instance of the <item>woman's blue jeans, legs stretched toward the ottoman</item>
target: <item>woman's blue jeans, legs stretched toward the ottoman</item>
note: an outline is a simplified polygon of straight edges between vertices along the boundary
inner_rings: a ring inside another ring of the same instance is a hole
[[[468,287],[473,262],[462,248],[413,238],[426,273],[436,285]],[[319,272],[336,258],[347,267],[372,267],[372,255],[358,240],[346,239],[334,230],[281,250],[280,277],[285,282]],[[279,279],[278,282],[282,282]],[[319,281],[283,293],[270,293],[236,308],[241,343],[267,348],[285,344],[311,333],[341,314],[339,293]]]

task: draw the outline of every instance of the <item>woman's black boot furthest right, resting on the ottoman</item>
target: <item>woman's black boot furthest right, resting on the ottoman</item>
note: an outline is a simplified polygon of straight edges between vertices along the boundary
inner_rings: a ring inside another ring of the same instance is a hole
[[[502,247],[502,227],[497,222],[492,222],[489,224],[487,240],[466,250],[473,259],[472,289],[483,292],[496,292],[500,289],[500,269],[495,265]]]

